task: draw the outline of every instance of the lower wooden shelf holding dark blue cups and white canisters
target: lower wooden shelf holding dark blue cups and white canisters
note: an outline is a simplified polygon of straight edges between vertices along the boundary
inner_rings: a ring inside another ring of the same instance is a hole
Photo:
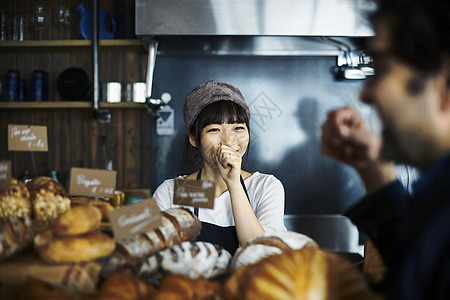
[[[144,103],[99,102],[101,108],[145,108]],[[0,102],[0,109],[62,109],[62,108],[91,108],[89,101],[45,101],[45,102]]]

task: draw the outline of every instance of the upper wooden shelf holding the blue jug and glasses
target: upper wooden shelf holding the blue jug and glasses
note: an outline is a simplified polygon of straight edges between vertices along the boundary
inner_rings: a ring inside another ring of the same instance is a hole
[[[90,47],[90,40],[45,40],[45,41],[0,41],[0,49],[13,49],[18,48],[53,48],[53,47]],[[126,47],[126,48],[138,48],[143,50],[144,46],[138,39],[128,40],[100,40],[100,47]]]

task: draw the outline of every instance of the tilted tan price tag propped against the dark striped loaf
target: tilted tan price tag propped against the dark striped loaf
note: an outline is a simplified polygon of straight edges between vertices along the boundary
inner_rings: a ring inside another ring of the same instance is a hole
[[[161,212],[155,198],[144,199],[109,212],[116,240],[162,226]]]

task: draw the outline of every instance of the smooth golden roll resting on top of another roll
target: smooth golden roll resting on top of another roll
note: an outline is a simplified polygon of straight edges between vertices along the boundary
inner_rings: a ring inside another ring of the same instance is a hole
[[[57,236],[74,236],[100,228],[102,213],[95,206],[77,206],[61,214],[53,225]]]

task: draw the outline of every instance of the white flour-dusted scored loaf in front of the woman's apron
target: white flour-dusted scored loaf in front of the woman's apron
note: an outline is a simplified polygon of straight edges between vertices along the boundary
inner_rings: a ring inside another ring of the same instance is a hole
[[[231,254],[208,242],[183,242],[159,251],[140,267],[138,275],[155,282],[159,275],[181,274],[190,278],[215,278],[228,272]]]

